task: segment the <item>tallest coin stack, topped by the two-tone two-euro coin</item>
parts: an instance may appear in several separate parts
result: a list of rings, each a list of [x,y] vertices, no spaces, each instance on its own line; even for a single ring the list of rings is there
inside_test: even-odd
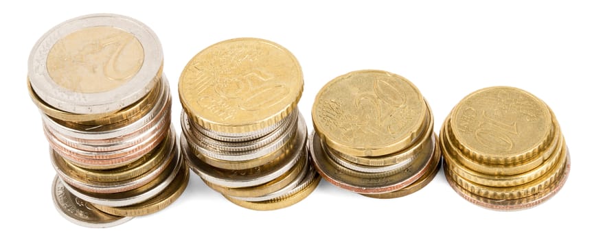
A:
[[[170,128],[161,45],[146,25],[113,14],[71,19],[38,40],[28,67],[62,215],[115,226],[181,195],[188,169]]]

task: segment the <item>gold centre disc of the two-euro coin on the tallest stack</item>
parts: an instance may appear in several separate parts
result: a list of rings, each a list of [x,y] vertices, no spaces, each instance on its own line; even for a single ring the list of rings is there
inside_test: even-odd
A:
[[[46,68],[63,88],[102,93],[132,79],[143,60],[144,49],[133,34],[117,27],[86,27],[52,46]]]

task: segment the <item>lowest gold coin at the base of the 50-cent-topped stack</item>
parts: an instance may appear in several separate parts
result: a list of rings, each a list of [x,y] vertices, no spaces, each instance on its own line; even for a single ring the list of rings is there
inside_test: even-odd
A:
[[[297,202],[300,202],[301,200],[304,200],[304,198],[308,197],[308,195],[310,195],[310,193],[312,193],[312,191],[316,189],[316,187],[320,183],[320,179],[321,178],[319,174],[313,172],[311,180],[306,184],[306,186],[301,188],[300,191],[297,191],[295,193],[292,193],[291,195],[287,195],[284,197],[278,197],[274,200],[267,200],[261,202],[247,202],[229,197],[228,195],[224,195],[224,197],[226,197],[226,199],[230,202],[237,204],[238,206],[242,206],[244,208],[257,211],[271,211],[280,208],[286,208],[288,206],[296,204]]]

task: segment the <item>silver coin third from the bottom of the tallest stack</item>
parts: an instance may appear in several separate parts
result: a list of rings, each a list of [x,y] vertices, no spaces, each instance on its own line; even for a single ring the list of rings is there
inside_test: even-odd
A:
[[[151,182],[143,187],[132,189],[130,191],[121,193],[90,193],[77,189],[76,187],[72,187],[69,184],[65,184],[65,187],[69,189],[73,195],[76,195],[82,200],[86,200],[92,204],[115,207],[138,204],[163,192],[163,190],[166,189],[172,181],[174,181],[178,173],[181,171],[188,171],[188,166],[184,163],[184,160],[180,154],[174,156],[174,158],[176,159],[172,159],[172,161],[177,163],[172,169],[170,169],[170,171],[164,171],[161,173],[161,175],[151,180]]]

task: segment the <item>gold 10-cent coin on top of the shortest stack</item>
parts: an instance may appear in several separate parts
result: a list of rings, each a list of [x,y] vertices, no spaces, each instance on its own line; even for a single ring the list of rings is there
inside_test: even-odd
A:
[[[451,112],[451,139],[483,163],[512,164],[541,152],[554,131],[547,105],[519,88],[483,88]]]

